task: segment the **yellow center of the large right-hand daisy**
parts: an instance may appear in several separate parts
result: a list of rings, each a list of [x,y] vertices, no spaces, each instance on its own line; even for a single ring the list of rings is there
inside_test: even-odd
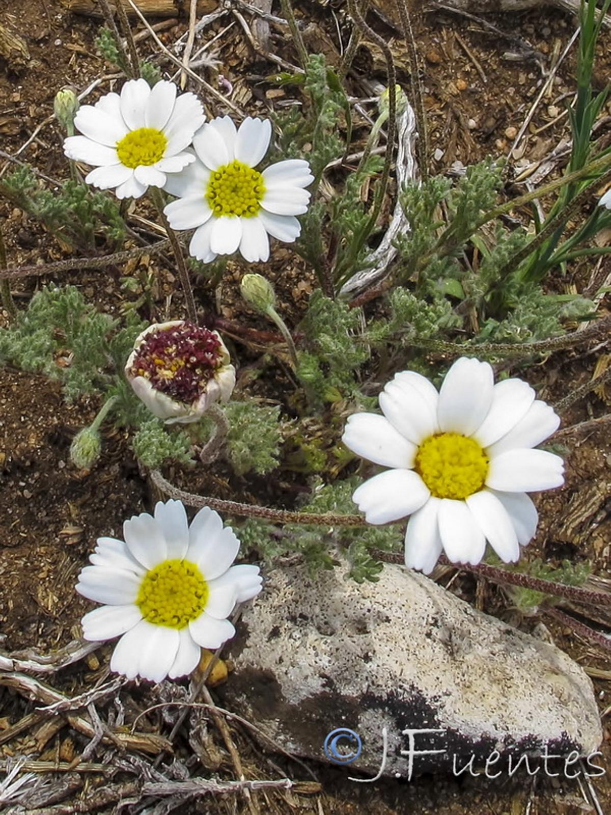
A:
[[[415,471],[436,498],[461,500],[481,490],[488,456],[473,438],[440,433],[425,438],[415,456]]]

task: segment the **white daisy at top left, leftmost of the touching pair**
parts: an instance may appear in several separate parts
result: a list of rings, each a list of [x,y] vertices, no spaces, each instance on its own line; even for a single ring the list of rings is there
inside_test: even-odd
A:
[[[79,108],[74,126],[82,135],[65,139],[64,153],[95,165],[88,184],[115,187],[117,198],[139,198],[194,161],[185,148],[204,123],[204,109],[194,94],[177,97],[176,90],[173,82],[151,88],[144,79],[130,79],[121,96],[106,94]]]

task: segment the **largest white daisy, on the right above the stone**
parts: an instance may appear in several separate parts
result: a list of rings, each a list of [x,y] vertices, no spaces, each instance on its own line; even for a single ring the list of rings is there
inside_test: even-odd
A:
[[[494,384],[486,362],[463,357],[441,390],[419,373],[396,374],[380,394],[383,416],[355,413],[342,437],[358,456],[390,467],[353,500],[373,524],[411,516],[405,562],[426,574],[442,553],[481,561],[486,540],[515,562],[538,522],[530,491],[564,483],[560,456],[536,445],[560,418],[520,379]]]

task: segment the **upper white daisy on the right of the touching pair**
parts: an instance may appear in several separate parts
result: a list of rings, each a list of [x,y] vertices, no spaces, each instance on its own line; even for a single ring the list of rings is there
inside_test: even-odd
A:
[[[269,120],[248,117],[235,130],[228,116],[204,125],[193,139],[197,160],[168,178],[178,196],[164,209],[173,229],[197,227],[189,251],[204,263],[237,249],[249,262],[270,257],[268,235],[292,243],[299,237],[314,181],[301,159],[278,161],[259,172],[270,145]]]

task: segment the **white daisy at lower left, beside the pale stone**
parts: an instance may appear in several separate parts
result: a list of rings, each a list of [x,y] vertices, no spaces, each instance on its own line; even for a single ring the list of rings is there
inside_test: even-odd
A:
[[[258,566],[231,566],[240,541],[209,507],[189,526],[180,501],[160,501],[154,518],[125,521],[123,536],[125,543],[99,538],[79,575],[77,592],[104,604],[83,617],[83,636],[121,637],[110,667],[128,679],[191,673],[200,648],[216,650],[234,636],[226,618],[261,591]]]

